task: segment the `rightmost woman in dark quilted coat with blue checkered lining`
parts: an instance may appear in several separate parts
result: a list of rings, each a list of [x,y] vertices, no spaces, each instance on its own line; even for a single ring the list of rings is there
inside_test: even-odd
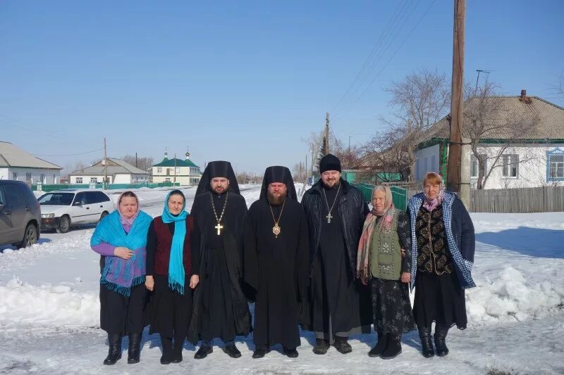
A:
[[[424,192],[408,203],[412,239],[411,285],[415,286],[413,314],[424,357],[434,355],[431,323],[435,322],[436,354],[448,354],[446,334],[451,326],[467,324],[465,288],[476,286],[474,225],[464,204],[444,189],[434,172],[423,180]]]

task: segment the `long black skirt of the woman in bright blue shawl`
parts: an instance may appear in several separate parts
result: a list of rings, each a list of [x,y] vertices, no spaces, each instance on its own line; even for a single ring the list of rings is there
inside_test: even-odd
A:
[[[140,333],[145,328],[147,289],[131,288],[129,297],[100,285],[100,328],[107,333]]]

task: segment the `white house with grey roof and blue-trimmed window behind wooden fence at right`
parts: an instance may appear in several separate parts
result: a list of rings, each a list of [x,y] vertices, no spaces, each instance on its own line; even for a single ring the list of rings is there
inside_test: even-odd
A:
[[[525,108],[537,116],[538,125],[522,139],[513,136],[510,143],[503,134],[482,137],[478,152],[488,156],[484,172],[491,172],[484,189],[564,184],[564,108],[537,96],[526,96],[525,91],[522,96],[497,96],[496,100],[501,100],[504,110],[494,121],[510,121],[500,117],[505,113],[509,118]],[[472,106],[467,102],[465,106]],[[419,144],[415,179],[422,180],[427,172],[446,176],[449,126],[446,117],[436,122],[429,130],[429,137]],[[479,172],[477,158],[472,151],[462,157],[470,162],[470,183],[475,187]]]

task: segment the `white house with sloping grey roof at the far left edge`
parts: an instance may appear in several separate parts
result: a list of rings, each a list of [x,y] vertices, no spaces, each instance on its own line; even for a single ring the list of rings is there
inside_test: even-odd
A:
[[[27,184],[57,184],[63,168],[36,158],[14,146],[0,141],[0,179],[16,179]]]

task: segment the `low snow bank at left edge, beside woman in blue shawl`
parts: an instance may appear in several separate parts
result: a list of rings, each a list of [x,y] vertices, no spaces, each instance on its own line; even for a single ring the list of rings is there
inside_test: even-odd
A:
[[[0,286],[3,326],[99,326],[95,293],[75,293],[68,286],[32,286],[14,277]]]

